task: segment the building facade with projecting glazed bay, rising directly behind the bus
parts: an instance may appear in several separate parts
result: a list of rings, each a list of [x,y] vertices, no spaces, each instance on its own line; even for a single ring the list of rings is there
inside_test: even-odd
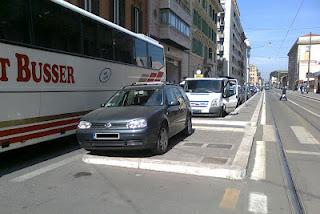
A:
[[[148,6],[148,36],[164,46],[167,81],[189,76],[192,14],[189,0],[153,0]]]

